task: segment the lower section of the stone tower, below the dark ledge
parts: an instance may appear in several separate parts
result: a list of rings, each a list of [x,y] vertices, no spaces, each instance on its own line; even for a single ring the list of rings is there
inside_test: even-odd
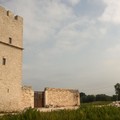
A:
[[[2,65],[3,57],[6,58],[6,65]],[[20,50],[0,44],[0,111],[20,110],[21,58]]]

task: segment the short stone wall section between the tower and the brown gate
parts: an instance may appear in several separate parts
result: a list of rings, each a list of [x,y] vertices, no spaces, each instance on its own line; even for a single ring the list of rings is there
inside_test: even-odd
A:
[[[22,109],[34,107],[34,91],[32,87],[23,86],[22,87],[22,101],[21,101]]]

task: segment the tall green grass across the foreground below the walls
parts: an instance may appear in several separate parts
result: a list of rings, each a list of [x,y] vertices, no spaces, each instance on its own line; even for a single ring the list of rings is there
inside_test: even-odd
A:
[[[0,120],[120,120],[120,108],[98,107],[96,104],[82,104],[77,110],[60,110],[46,113],[30,108],[20,114],[2,116]]]

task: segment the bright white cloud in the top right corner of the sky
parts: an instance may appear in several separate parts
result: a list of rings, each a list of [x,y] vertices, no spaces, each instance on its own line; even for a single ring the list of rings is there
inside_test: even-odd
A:
[[[106,9],[100,20],[120,24],[120,0],[104,0]]]

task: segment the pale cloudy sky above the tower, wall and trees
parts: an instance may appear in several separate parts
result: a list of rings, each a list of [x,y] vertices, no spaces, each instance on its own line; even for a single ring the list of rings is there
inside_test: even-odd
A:
[[[24,19],[23,84],[115,94],[120,0],[0,0]]]

